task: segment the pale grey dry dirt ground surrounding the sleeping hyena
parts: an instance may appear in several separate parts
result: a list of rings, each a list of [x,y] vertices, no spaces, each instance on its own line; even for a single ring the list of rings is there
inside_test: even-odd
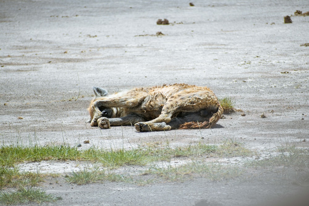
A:
[[[293,14],[308,11],[309,2],[193,3],[0,0],[0,143],[129,148],[166,140],[181,146],[203,137],[209,143],[235,138],[261,153],[308,147],[309,47],[300,45],[309,43],[309,16]],[[292,23],[284,23],[286,15]],[[157,25],[158,19],[170,24]],[[85,123],[92,86],[115,92],[177,82],[233,97],[246,115],[226,115],[212,129],[166,132]],[[295,178],[265,172],[247,181],[147,186],[50,180],[41,188],[63,198],[50,205],[271,205],[308,194]]]

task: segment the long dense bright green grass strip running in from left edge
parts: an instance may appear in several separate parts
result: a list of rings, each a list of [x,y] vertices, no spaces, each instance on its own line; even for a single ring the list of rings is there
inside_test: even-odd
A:
[[[116,167],[122,165],[144,164],[143,152],[139,149],[116,149],[104,151],[103,149],[89,148],[78,150],[69,145],[55,146],[23,146],[23,145],[2,145],[0,147],[0,166],[14,167],[15,164],[43,160],[79,160],[99,161],[104,166]]]

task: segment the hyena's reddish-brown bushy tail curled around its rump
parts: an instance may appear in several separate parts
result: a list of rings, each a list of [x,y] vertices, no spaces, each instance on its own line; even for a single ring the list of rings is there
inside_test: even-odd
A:
[[[223,114],[223,108],[218,103],[218,111],[211,116],[209,121],[204,121],[204,122],[186,122],[184,124],[180,124],[179,129],[198,129],[198,128],[211,128],[214,126],[219,119],[221,118]]]

